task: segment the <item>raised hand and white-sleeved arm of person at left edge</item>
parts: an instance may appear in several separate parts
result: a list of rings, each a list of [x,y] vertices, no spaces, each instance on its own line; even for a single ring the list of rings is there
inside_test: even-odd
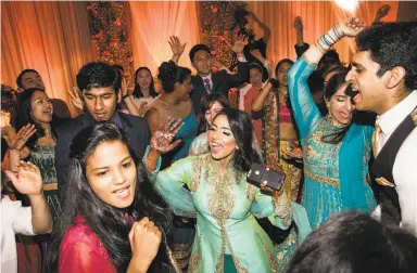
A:
[[[35,235],[52,231],[52,216],[42,193],[42,178],[38,167],[21,162],[18,174],[7,170],[16,190],[26,194],[30,207],[22,207],[21,202],[12,202],[8,196],[0,200],[1,211],[1,269],[0,273],[17,272],[15,236],[17,233]]]

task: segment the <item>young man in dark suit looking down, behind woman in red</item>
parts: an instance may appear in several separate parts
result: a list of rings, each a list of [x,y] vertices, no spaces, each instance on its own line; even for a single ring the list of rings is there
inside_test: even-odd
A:
[[[70,165],[72,140],[79,130],[93,122],[115,122],[125,130],[135,152],[143,157],[151,138],[148,122],[141,117],[116,110],[117,103],[122,100],[121,84],[121,74],[105,63],[88,63],[79,70],[77,86],[81,91],[85,114],[65,122],[56,130],[55,167],[61,194]],[[155,151],[151,150],[149,156],[155,156]]]

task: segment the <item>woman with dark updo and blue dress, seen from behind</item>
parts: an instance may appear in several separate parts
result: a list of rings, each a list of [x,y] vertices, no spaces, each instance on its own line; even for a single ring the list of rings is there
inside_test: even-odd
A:
[[[177,66],[174,62],[164,62],[159,68],[164,93],[149,107],[146,118],[153,134],[161,125],[170,120],[182,120],[184,126],[175,135],[181,143],[173,151],[162,155],[161,170],[188,156],[191,142],[197,136],[198,122],[190,100],[191,72]],[[179,266],[185,270],[191,255],[194,238],[194,219],[174,217],[173,226],[167,235],[169,247]]]

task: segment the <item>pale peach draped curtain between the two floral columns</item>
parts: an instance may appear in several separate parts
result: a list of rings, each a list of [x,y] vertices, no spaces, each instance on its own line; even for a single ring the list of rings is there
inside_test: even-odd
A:
[[[187,42],[179,65],[191,68],[188,53],[200,42],[198,2],[194,1],[143,1],[129,2],[131,14],[131,41],[134,66],[148,66],[153,76],[157,67],[170,60],[169,36],[178,36]]]

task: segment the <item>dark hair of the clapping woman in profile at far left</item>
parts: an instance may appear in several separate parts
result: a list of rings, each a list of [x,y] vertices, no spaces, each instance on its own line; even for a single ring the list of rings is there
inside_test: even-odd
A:
[[[17,106],[16,106],[17,110],[16,110],[16,116],[14,121],[14,125],[16,126],[17,131],[22,127],[26,126],[27,123],[35,125],[36,133],[34,133],[34,135],[31,135],[26,141],[26,146],[31,151],[36,151],[36,144],[38,143],[38,140],[46,135],[42,126],[38,123],[31,115],[31,96],[36,91],[45,93],[42,89],[29,88],[29,89],[25,89],[23,92],[21,92],[17,95]],[[53,136],[56,136],[55,130],[62,123],[62,121],[63,119],[56,117],[55,114],[52,114],[51,129],[52,129]]]

